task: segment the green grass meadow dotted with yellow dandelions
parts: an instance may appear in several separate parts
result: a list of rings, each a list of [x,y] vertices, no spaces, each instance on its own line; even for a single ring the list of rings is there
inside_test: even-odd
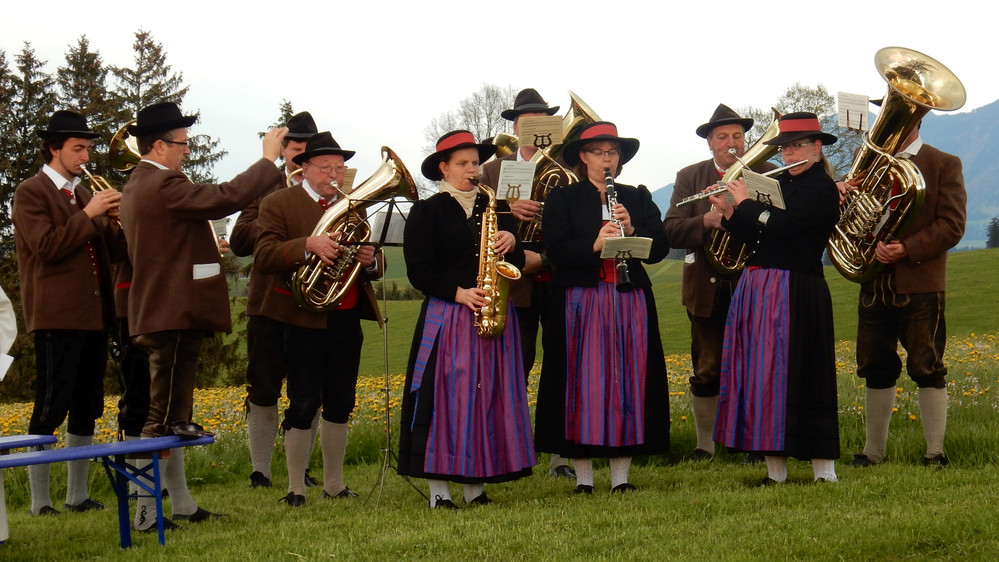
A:
[[[672,427],[668,454],[636,459],[631,481],[639,491],[608,493],[605,463],[597,463],[596,493],[574,497],[573,484],[547,475],[543,456],[534,476],[488,486],[490,506],[457,513],[426,509],[422,481],[415,488],[389,469],[381,470],[386,445],[386,400],[390,428],[398,431],[398,402],[405,360],[418,311],[416,302],[389,302],[389,375],[382,373],[382,339],[366,324],[365,372],[358,387],[346,480],[362,494],[356,501],[323,501],[311,489],[308,504],[291,510],[277,500],[285,493],[284,457],[274,458],[275,488],[248,487],[243,390],[197,391],[195,418],[218,433],[215,445],[188,453],[192,492],[206,508],[229,517],[168,533],[160,548],[154,536],[135,538],[129,552],[117,548],[112,511],[27,514],[24,469],[4,472],[11,539],[2,560],[435,560],[683,559],[683,560],[989,560],[999,552],[999,320],[990,275],[996,250],[951,256],[948,283],[950,410],[946,450],[952,464],[923,467],[923,437],[915,387],[900,380],[888,458],[882,465],[853,469],[852,453],[863,445],[862,384],[855,376],[856,285],[828,272],[833,293],[842,458],[840,481],[813,485],[807,463],[789,463],[789,484],[755,488],[762,466],[720,454],[691,463],[694,429],[686,379],[687,320],[679,305],[679,264],[652,270],[660,329],[670,372]],[[391,272],[391,270],[390,270]],[[531,397],[537,383],[533,372]],[[387,390],[387,395],[386,395]],[[0,431],[19,433],[30,406],[0,406]],[[98,438],[113,439],[114,397],[109,397]],[[313,457],[314,473],[319,467]],[[53,499],[61,505],[65,470],[52,471]],[[113,494],[97,467],[91,489],[111,505]],[[452,486],[460,497],[460,487]]]

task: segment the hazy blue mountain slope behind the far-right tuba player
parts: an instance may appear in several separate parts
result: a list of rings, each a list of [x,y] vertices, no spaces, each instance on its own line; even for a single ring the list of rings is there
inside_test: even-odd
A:
[[[985,229],[992,217],[999,217],[999,189],[992,184],[999,178],[999,101],[968,113],[930,113],[920,134],[923,142],[961,158],[968,224],[958,248],[984,248]],[[663,213],[672,194],[672,183],[652,192]]]

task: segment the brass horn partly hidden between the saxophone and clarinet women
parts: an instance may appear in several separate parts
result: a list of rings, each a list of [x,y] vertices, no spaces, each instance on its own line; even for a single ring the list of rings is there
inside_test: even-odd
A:
[[[569,110],[562,117],[562,143],[538,150],[531,157],[534,163],[534,181],[531,182],[531,200],[541,203],[538,214],[530,221],[520,222],[518,234],[523,242],[539,242],[541,240],[541,214],[544,212],[545,199],[552,188],[568,180],[569,183],[579,181],[576,174],[558,163],[562,149],[566,144],[579,138],[583,127],[589,123],[600,121],[600,117],[573,92],[569,92]],[[563,179],[564,178],[564,179]]]

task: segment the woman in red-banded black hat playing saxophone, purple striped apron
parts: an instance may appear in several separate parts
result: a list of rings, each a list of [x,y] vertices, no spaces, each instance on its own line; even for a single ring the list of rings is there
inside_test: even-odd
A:
[[[457,509],[448,481],[465,485],[465,503],[489,503],[486,482],[527,476],[535,464],[514,309],[498,337],[480,337],[475,325],[492,298],[477,286],[482,258],[524,265],[509,215],[481,247],[480,231],[497,219],[472,180],[495,150],[468,131],[441,137],[422,166],[440,193],[414,203],[406,221],[409,280],[426,298],[406,373],[399,474],[428,480],[431,508]]]

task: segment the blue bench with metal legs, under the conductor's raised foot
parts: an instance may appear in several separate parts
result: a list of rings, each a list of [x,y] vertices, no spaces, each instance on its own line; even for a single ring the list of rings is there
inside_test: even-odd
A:
[[[25,436],[18,436],[25,437]],[[49,436],[31,436],[49,437]],[[55,437],[51,438],[51,442]],[[48,464],[54,462],[75,461],[81,459],[96,459],[104,465],[104,472],[111,481],[111,487],[118,496],[118,533],[121,537],[121,547],[132,546],[132,521],[128,512],[128,482],[135,483],[145,493],[139,492],[135,497],[153,497],[156,499],[156,530],[160,544],[166,542],[163,536],[163,488],[160,482],[159,459],[164,451],[177,447],[192,445],[208,445],[215,442],[215,437],[206,435],[197,439],[184,439],[171,435],[169,437],[154,437],[134,441],[118,441],[84,447],[66,447],[62,449],[46,449],[12,455],[0,456],[0,469],[32,464]],[[126,455],[149,454],[152,462],[139,469],[126,462]],[[151,481],[152,486],[145,480]]]

